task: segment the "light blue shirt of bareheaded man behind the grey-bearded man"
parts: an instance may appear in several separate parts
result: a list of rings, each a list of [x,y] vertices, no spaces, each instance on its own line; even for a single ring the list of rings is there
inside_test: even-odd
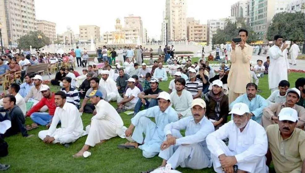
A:
[[[263,109],[268,106],[266,99],[264,99],[264,97],[260,95],[256,95],[255,98],[250,101],[248,99],[247,94],[243,94],[237,97],[237,99],[230,104],[229,109],[231,110],[235,103],[240,103],[240,102],[247,104],[250,109],[250,112],[254,114],[254,116],[251,119],[261,124]],[[231,116],[231,120],[233,120],[233,116]]]

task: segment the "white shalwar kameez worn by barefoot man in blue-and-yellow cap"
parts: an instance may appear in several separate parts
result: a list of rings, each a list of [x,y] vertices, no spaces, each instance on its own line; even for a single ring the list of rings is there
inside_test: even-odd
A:
[[[113,106],[105,100],[100,100],[95,108],[97,113],[91,118],[91,125],[86,127],[88,136],[85,144],[94,147],[101,140],[108,140],[117,135],[124,138],[123,120]]]

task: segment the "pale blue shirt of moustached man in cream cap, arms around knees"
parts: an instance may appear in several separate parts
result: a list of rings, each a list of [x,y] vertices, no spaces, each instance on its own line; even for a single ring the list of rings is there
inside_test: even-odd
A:
[[[205,116],[196,124],[194,117],[185,117],[171,122],[164,127],[166,135],[172,134],[172,129],[185,130],[185,137],[176,139],[176,146],[181,144],[196,144],[205,141],[208,134],[214,131],[213,123]]]

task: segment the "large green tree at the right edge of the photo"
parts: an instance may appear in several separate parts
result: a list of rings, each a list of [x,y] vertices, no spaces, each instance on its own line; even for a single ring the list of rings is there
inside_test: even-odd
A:
[[[281,34],[284,39],[303,41],[304,32],[304,18],[301,12],[282,12],[273,16],[268,28],[267,39],[272,41],[275,35]]]

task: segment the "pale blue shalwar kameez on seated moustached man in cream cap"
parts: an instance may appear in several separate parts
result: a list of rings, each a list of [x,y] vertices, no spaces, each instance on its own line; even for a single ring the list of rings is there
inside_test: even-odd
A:
[[[185,137],[181,135],[180,130],[185,130]],[[173,169],[178,166],[192,169],[211,167],[211,153],[207,149],[205,139],[213,131],[214,125],[206,117],[203,117],[197,124],[193,116],[172,122],[165,126],[165,136],[171,134],[178,139],[176,139],[175,146],[171,145],[160,151],[159,157],[167,160]]]

